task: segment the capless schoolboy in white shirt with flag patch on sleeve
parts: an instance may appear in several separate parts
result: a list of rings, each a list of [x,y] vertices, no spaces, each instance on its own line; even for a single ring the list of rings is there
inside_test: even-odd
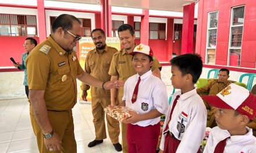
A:
[[[159,152],[200,152],[205,136],[207,111],[194,83],[202,73],[202,60],[198,54],[182,54],[170,60],[173,88],[172,104],[163,124]]]

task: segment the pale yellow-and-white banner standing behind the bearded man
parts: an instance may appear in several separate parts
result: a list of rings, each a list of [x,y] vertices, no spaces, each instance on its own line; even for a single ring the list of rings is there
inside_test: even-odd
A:
[[[106,37],[106,45],[111,46],[120,50],[120,41],[118,37]],[[79,61],[82,68],[84,68],[84,64],[86,63],[86,56],[88,52],[93,50],[95,45],[93,43],[93,39],[91,37],[82,37],[79,41]],[[80,83],[81,86],[81,83]],[[80,88],[80,100],[83,91]],[[87,90],[87,101],[91,101],[91,89]]]

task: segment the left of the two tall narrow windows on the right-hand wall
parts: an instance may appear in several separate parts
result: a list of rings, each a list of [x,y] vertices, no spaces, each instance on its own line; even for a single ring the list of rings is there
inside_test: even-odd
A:
[[[208,13],[207,46],[205,54],[205,63],[207,64],[215,64],[217,28],[218,12]]]

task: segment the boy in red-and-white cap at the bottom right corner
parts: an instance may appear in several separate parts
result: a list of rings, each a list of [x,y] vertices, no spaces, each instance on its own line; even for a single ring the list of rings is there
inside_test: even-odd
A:
[[[216,96],[202,96],[218,108],[204,153],[256,152],[256,138],[246,125],[256,116],[256,97],[247,89],[234,83]]]

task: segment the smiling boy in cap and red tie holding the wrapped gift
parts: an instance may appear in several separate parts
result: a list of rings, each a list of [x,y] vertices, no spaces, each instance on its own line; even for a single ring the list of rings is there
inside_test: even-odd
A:
[[[168,110],[165,83],[152,75],[153,52],[149,46],[140,44],[133,52],[132,65],[137,72],[125,82],[123,102],[133,110],[127,123],[128,151],[152,152],[157,150],[160,135],[160,118]]]

